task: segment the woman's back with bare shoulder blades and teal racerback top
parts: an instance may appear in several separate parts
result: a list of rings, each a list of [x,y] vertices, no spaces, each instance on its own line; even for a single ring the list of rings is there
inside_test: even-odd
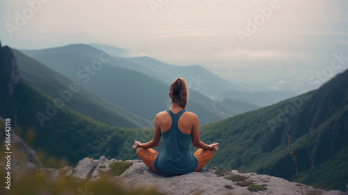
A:
[[[184,109],[176,114],[167,109],[157,116],[163,144],[153,165],[164,176],[191,173],[198,165],[189,148],[192,129],[190,115]]]

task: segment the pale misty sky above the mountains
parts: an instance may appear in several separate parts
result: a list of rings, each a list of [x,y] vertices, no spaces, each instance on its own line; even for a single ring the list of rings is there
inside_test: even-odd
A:
[[[327,71],[333,54],[348,56],[345,0],[46,1],[22,26],[16,25],[16,12],[23,16],[29,3],[0,1],[2,45],[41,49],[104,43],[128,49],[130,56],[203,65],[253,90],[296,93],[317,87],[308,79]],[[272,13],[262,21],[260,9]],[[260,25],[248,33],[247,20],[255,18]],[[17,26],[12,37],[9,24]],[[237,31],[248,33],[244,43]],[[347,68],[348,61],[324,79]]]

